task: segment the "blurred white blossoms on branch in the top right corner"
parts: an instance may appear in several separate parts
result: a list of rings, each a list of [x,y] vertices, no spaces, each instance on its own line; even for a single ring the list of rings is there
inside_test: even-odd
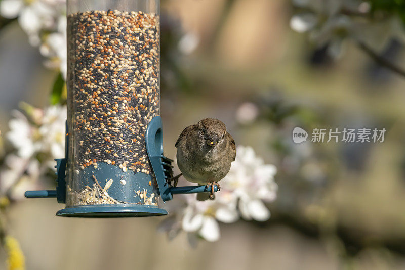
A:
[[[372,16],[371,6],[361,0],[293,0],[297,13],[290,27],[308,33],[309,39],[321,47],[329,44],[328,53],[334,58],[343,55],[347,40],[367,44],[380,51],[395,37],[405,41],[403,22],[397,16]]]

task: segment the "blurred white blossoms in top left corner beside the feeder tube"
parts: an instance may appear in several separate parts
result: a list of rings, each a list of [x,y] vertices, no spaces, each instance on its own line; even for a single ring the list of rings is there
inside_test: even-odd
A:
[[[32,46],[39,46],[48,67],[60,68],[66,78],[66,1],[2,0],[0,15],[18,18]]]

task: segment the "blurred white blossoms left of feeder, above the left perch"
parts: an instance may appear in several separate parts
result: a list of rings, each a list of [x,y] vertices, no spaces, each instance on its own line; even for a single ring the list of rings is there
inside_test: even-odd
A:
[[[37,189],[41,178],[54,170],[55,158],[65,156],[66,107],[52,106],[45,110],[26,106],[27,116],[14,111],[7,139],[16,149],[6,156],[0,171],[0,192],[22,198],[27,189]]]

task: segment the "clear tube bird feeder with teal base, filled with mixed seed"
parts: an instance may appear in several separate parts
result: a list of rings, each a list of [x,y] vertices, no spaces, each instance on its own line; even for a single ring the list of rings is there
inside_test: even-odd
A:
[[[67,1],[66,155],[56,159],[58,216],[165,215],[173,160],[163,155],[159,0]],[[217,191],[217,187],[214,188]]]

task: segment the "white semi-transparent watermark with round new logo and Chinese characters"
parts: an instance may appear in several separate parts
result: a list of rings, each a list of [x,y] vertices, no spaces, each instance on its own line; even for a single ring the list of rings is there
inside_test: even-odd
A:
[[[383,143],[386,129],[377,128],[314,128],[311,133],[312,143]],[[296,144],[306,141],[308,133],[301,127],[293,130],[293,141]]]

